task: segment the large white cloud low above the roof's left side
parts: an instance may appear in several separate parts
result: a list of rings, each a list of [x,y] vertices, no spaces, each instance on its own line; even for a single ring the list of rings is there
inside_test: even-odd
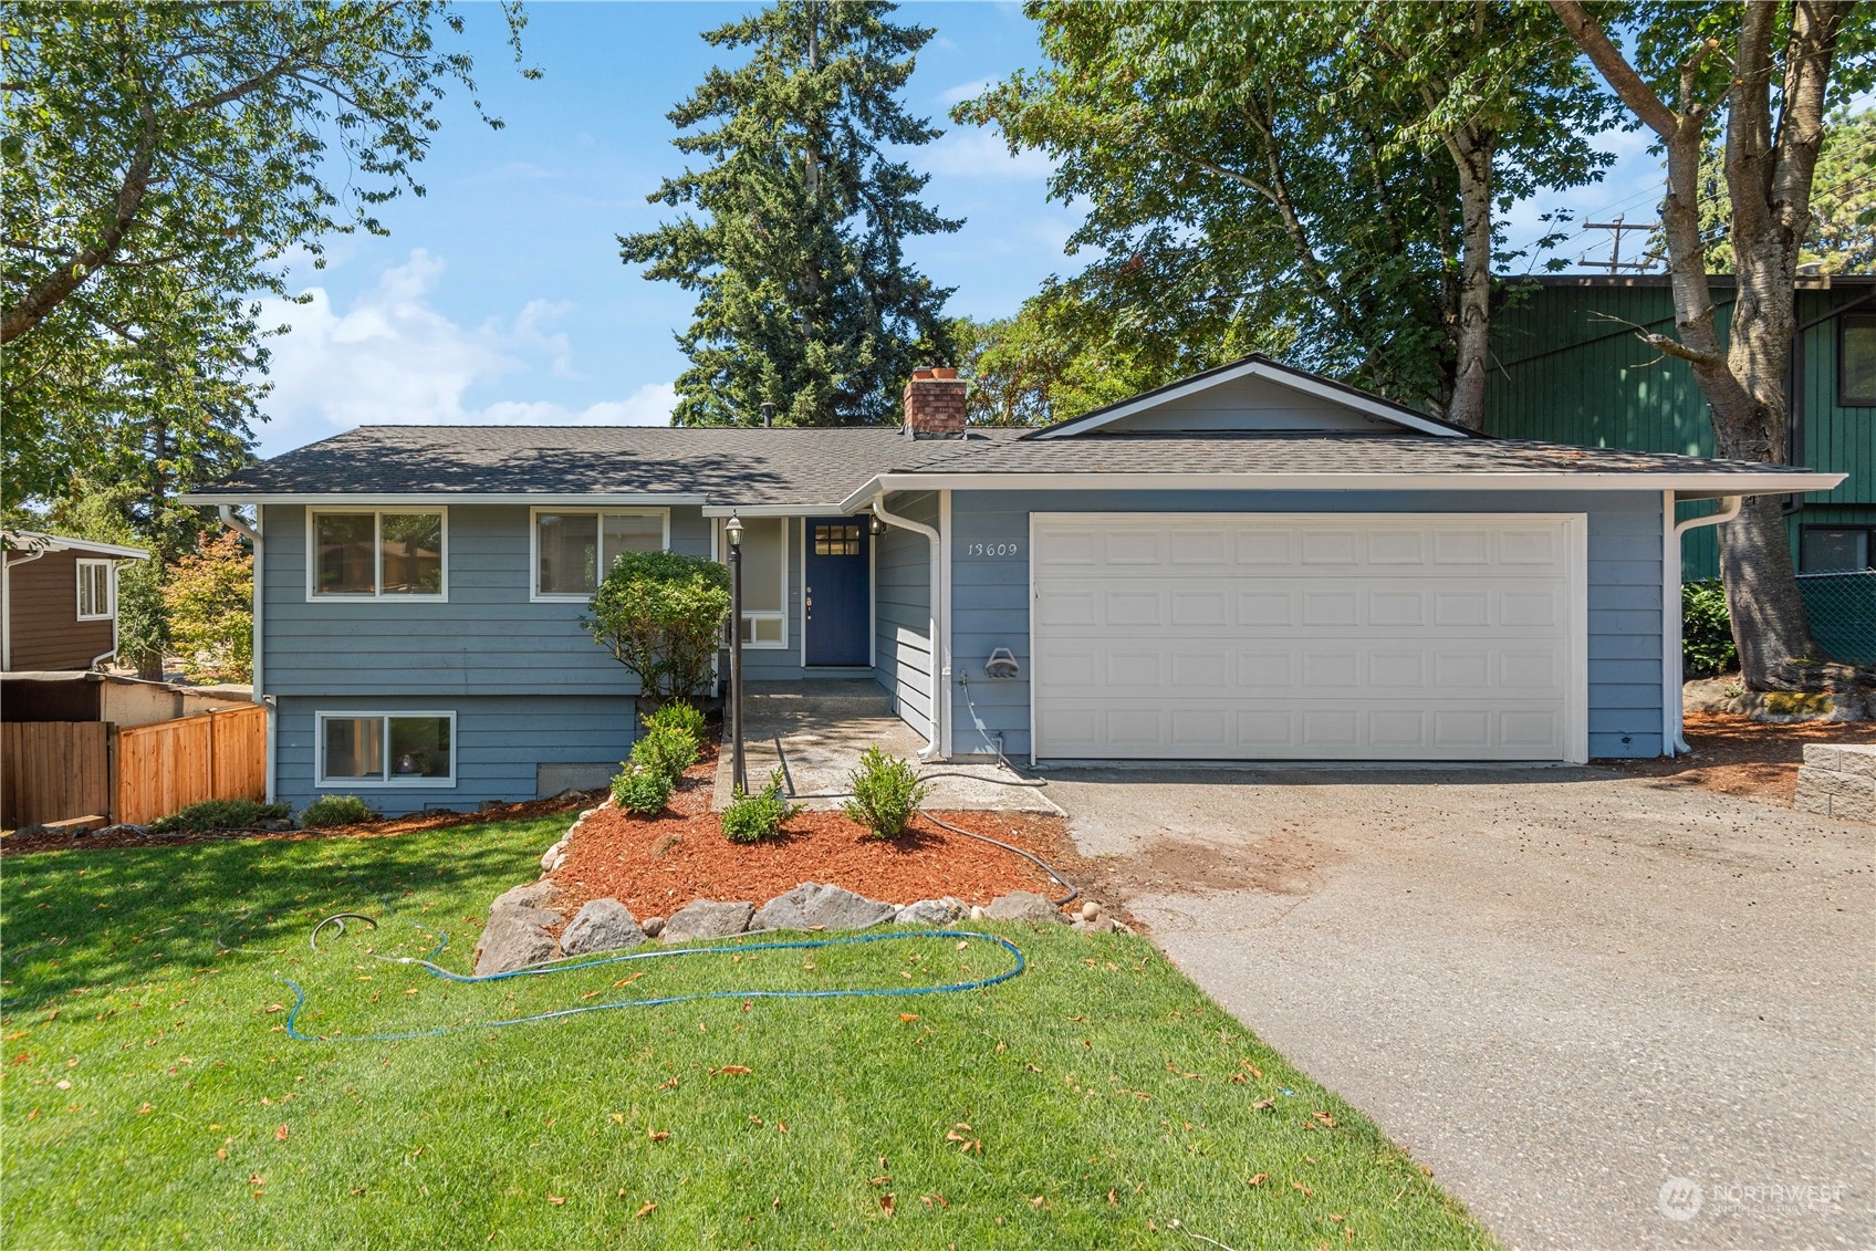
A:
[[[507,383],[514,390],[537,369],[580,379],[567,334],[550,330],[572,304],[529,300],[512,319],[461,326],[431,304],[443,270],[441,257],[418,248],[343,311],[325,287],[310,287],[308,304],[268,302],[263,324],[285,323],[293,330],[270,343],[274,392],[263,401],[270,420],[257,431],[263,454],[368,422],[657,426],[670,420],[675,403],[670,383],[649,383],[625,399],[583,409],[544,399],[469,403],[465,396],[475,388]]]

